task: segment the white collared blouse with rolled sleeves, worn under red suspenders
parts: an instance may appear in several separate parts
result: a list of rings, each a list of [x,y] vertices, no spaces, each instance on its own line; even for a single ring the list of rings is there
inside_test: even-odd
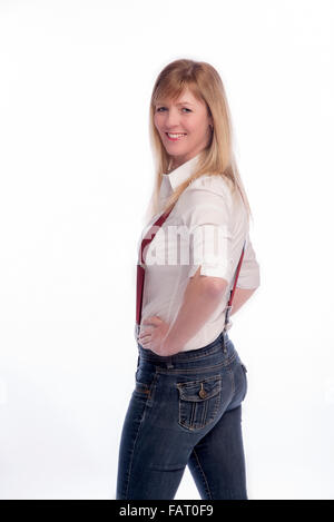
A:
[[[187,179],[199,155],[169,174],[163,174],[159,213],[144,228],[141,239],[163,213],[163,205],[175,188]],[[259,286],[259,265],[255,256],[246,219],[246,209],[238,190],[233,195],[230,181],[220,176],[204,175],[181,194],[168,218],[145,250],[145,286],[143,321],[157,315],[167,323],[175,321],[183,303],[188,278],[200,265],[200,274],[222,277],[227,288],[222,303],[209,321],[180,351],[197,349],[215,341],[225,324],[225,307],[239,262],[244,240],[245,253],[238,276],[238,288]],[[145,326],[145,325],[144,325]],[[136,328],[135,328],[135,337]]]

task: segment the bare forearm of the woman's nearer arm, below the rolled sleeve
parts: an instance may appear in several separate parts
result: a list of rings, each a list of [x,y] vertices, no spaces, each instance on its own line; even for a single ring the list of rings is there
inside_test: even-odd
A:
[[[177,317],[171,323],[165,346],[167,352],[180,352],[194,337],[222,303],[223,288],[209,285],[206,276],[190,278]]]

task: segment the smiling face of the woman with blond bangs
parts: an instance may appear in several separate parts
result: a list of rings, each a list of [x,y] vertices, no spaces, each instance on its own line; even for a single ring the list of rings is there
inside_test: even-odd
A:
[[[208,145],[212,136],[209,125],[213,119],[206,105],[188,88],[177,100],[159,100],[154,121],[166,151],[173,157],[173,168],[194,158]]]

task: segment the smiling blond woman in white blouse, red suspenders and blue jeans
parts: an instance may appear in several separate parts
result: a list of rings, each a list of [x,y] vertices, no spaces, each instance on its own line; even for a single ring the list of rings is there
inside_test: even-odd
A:
[[[247,499],[246,368],[227,335],[230,323],[224,326],[240,256],[233,313],[259,286],[259,265],[217,71],[186,59],[169,63],[154,86],[150,126],[157,178],[143,237],[159,216],[165,221],[144,249],[138,367],[116,499],[171,500],[186,465],[202,499]]]

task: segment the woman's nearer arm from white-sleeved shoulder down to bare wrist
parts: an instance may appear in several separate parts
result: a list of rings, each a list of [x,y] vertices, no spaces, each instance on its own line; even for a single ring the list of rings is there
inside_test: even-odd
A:
[[[196,185],[197,183],[197,185]],[[207,184],[207,185],[206,185]],[[230,205],[224,188],[216,189],[212,180],[195,181],[183,194],[183,223],[193,242],[194,262],[188,273],[181,305],[164,339],[167,353],[177,353],[222,306],[228,280],[232,278]],[[215,240],[214,237],[217,239]]]

